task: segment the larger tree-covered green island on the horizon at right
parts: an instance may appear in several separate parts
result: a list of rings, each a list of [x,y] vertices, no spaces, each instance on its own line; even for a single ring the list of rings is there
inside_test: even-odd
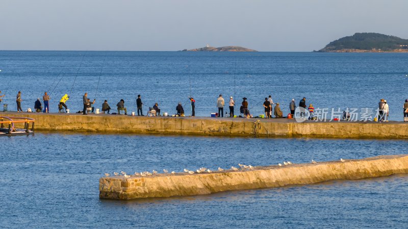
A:
[[[379,33],[355,33],[340,38],[314,52],[328,53],[408,53],[408,39]]]

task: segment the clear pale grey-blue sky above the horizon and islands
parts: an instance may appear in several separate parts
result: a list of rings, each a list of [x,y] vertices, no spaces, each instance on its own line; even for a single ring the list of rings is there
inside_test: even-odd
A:
[[[406,0],[1,0],[0,50],[309,52],[358,32],[408,39]]]

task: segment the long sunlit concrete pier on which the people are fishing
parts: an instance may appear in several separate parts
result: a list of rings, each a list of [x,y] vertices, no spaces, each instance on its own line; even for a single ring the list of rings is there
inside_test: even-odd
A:
[[[36,119],[35,130],[207,136],[408,138],[408,122],[315,122],[293,119],[146,117],[1,113]]]

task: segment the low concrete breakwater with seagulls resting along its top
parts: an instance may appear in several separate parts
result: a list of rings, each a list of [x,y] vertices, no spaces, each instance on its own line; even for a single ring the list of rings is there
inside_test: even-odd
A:
[[[230,190],[314,184],[408,173],[408,155],[379,156],[346,162],[255,167],[245,171],[102,177],[99,197],[137,199],[210,194]]]

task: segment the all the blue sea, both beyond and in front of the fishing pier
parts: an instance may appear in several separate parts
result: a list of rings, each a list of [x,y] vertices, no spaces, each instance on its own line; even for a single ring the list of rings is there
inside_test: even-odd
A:
[[[272,95],[315,108],[370,108],[387,99],[402,121],[406,54],[0,51],[3,104],[34,107],[44,91],[51,112],[65,93],[71,111],[82,95],[125,100],[136,111],[159,103],[175,113],[188,97],[196,115],[217,112],[219,94],[248,98],[254,114]],[[97,108],[97,107],[96,107]],[[0,109],[2,110],[2,109]],[[146,111],[144,111],[146,112]],[[0,113],[1,114],[1,113]],[[407,140],[204,137],[36,132],[0,137],[1,228],[406,228],[408,175],[209,195],[117,201],[99,199],[104,173],[182,172],[291,161],[308,163],[406,154]]]

